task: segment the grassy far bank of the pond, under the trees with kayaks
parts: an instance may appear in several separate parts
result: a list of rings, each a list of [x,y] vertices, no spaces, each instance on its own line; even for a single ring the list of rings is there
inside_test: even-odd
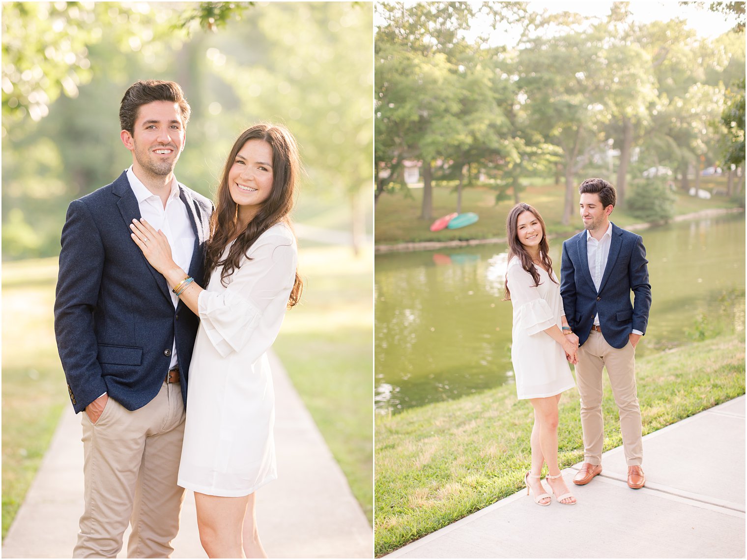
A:
[[[725,188],[726,179],[724,177],[704,179],[701,188],[722,186],[721,183]],[[522,202],[531,204],[539,210],[550,235],[576,233],[583,227],[576,212],[577,206],[574,206],[571,223],[568,226],[561,224],[565,200],[564,189],[565,185],[553,185],[551,181],[531,181],[527,190],[521,195]],[[376,203],[375,237],[377,245],[418,241],[451,241],[454,239],[491,239],[506,236],[506,216],[514,203],[513,200],[510,200],[495,204],[495,191],[490,188],[477,186],[463,190],[462,212],[476,212],[480,216],[480,221],[459,230],[431,232],[428,229],[436,218],[450,212],[456,212],[456,193],[453,192],[450,185],[433,188],[433,220],[426,221],[419,218],[422,197],[422,188],[411,188],[406,193],[382,194],[379,197],[379,201]],[[722,196],[715,196],[710,200],[701,200],[678,191],[677,198],[675,211],[678,215],[736,206],[734,201]],[[576,194],[576,202],[578,202],[578,194]],[[631,224],[638,224],[641,220],[627,214],[621,206],[613,212],[612,221],[621,227],[626,227]]]

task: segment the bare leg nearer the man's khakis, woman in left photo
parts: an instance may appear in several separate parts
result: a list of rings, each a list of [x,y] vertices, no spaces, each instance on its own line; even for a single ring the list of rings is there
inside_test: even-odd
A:
[[[227,498],[194,493],[199,541],[208,558],[246,558],[241,529],[249,496]]]

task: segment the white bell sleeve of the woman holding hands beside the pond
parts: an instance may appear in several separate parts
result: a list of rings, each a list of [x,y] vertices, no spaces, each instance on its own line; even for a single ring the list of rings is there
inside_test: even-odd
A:
[[[514,307],[514,327],[531,336],[557,324],[550,305],[539,295],[532,275],[521,268],[521,263],[509,266],[506,280]]]

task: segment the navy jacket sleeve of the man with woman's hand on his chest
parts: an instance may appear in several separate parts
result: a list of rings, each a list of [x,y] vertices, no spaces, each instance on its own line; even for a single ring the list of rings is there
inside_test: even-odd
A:
[[[107,390],[93,330],[104,247],[93,216],[81,200],[74,200],[67,209],[61,245],[55,337],[72,406],[78,413]]]

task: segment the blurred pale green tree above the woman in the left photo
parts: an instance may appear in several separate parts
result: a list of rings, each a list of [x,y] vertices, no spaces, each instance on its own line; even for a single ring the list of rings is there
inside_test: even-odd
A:
[[[347,198],[356,250],[372,184],[372,25],[371,10],[347,3],[268,4],[261,18],[229,22],[232,40],[207,51],[211,72],[229,86],[221,96],[229,115],[286,123],[311,185]]]

